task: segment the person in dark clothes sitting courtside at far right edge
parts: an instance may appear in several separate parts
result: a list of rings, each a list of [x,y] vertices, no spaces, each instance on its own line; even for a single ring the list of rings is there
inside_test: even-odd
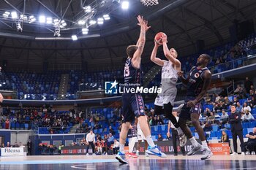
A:
[[[255,147],[256,147],[256,128],[253,128],[252,132],[249,134],[246,134],[246,138],[248,138],[248,141],[244,143],[246,148],[246,155],[249,155],[250,153],[252,155],[255,155]]]

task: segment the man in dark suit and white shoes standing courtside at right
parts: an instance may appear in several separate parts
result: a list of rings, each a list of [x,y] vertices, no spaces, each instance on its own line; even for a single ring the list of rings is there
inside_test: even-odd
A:
[[[231,114],[229,116],[229,122],[231,125],[231,132],[233,136],[233,146],[234,152],[231,155],[238,155],[237,153],[237,136],[239,137],[241,143],[241,155],[245,155],[244,153],[244,137],[243,137],[243,126],[241,124],[241,114],[236,111],[236,106],[231,106]]]

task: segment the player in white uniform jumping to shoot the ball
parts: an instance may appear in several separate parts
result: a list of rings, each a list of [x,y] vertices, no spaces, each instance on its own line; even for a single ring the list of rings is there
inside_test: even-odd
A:
[[[151,53],[151,61],[157,63],[157,65],[162,66],[161,74],[161,88],[162,93],[157,95],[154,103],[154,113],[156,115],[165,114],[173,125],[177,128],[178,136],[180,140],[180,145],[183,147],[187,143],[187,138],[183,131],[178,125],[176,117],[173,116],[173,106],[174,100],[177,94],[176,82],[178,80],[178,72],[181,71],[181,62],[178,61],[178,53],[174,48],[167,47],[167,37],[162,37],[162,46],[165,53],[165,57],[168,60],[162,60],[157,58],[157,50],[160,46],[157,42],[154,42],[154,49]]]

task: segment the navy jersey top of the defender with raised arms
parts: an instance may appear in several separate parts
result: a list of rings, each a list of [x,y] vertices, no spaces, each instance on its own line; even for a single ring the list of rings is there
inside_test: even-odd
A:
[[[124,66],[124,83],[125,84],[139,84],[142,83],[143,71],[141,69],[135,69],[132,66],[132,58],[127,58]]]

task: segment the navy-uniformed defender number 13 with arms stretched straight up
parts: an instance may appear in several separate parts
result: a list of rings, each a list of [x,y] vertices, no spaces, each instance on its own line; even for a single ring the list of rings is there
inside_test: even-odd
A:
[[[143,76],[140,66],[141,54],[143,53],[146,42],[146,31],[150,28],[150,26],[148,26],[148,21],[144,20],[143,17],[139,15],[137,19],[139,22],[138,25],[140,26],[140,37],[136,45],[129,45],[127,47],[128,58],[124,66],[124,85],[127,89],[136,88],[141,85]],[[141,94],[125,91],[122,95],[122,104],[124,120],[120,132],[120,151],[116,155],[116,159],[120,163],[128,163],[124,154],[124,144],[127,139],[129,126],[135,121],[135,117],[138,117],[141,130],[143,131],[144,136],[146,136],[146,141],[149,145],[146,152],[165,158],[165,153],[161,152],[152,140]]]

